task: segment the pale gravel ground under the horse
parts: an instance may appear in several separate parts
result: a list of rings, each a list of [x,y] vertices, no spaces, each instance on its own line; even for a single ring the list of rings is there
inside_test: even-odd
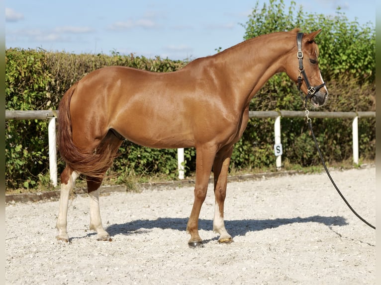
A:
[[[332,171],[352,207],[376,220],[375,167]],[[200,214],[204,248],[190,249],[193,188],[100,197],[112,241],[89,230],[89,200],[69,201],[69,243],[55,239],[58,201],[8,203],[6,284],[376,284],[376,231],[345,205],[325,173],[229,182],[225,225],[212,231],[209,185]]]

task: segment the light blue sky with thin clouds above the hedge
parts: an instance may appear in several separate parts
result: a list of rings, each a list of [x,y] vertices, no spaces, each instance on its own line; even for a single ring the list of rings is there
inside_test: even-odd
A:
[[[5,0],[5,46],[183,60],[241,41],[257,0]],[[259,7],[268,0],[259,0]],[[286,6],[290,0],[285,0]],[[375,0],[295,0],[308,13],[376,23]],[[307,32],[307,31],[306,31]]]

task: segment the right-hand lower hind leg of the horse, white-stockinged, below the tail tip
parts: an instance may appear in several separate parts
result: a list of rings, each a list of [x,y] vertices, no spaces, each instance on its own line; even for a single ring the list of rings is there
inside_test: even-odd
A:
[[[111,238],[103,228],[99,209],[99,187],[102,183],[101,178],[87,177],[88,192],[90,197],[90,229],[95,230],[96,240],[109,240]]]

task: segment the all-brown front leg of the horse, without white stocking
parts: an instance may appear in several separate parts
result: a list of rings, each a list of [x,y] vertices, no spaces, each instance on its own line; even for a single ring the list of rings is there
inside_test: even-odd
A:
[[[215,156],[215,148],[196,148],[196,182],[194,186],[194,202],[191,215],[187,224],[187,232],[191,234],[188,245],[191,248],[203,247],[202,239],[198,234],[198,218],[202,203],[206,198],[209,183],[209,175],[212,169]]]

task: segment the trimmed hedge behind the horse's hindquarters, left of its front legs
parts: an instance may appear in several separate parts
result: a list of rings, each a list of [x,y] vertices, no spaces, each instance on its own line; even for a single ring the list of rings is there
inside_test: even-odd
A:
[[[96,69],[119,65],[148,71],[169,72],[182,68],[185,61],[147,59],[121,56],[113,53],[75,55],[52,53],[44,50],[7,49],[6,61],[6,110],[55,110],[63,93],[87,73]],[[36,187],[49,182],[46,175],[48,162],[47,122],[41,120],[6,121],[6,189]],[[128,169],[138,175],[162,172],[175,178],[176,150],[147,149],[126,142],[120,151],[127,156],[116,159],[113,169]],[[194,157],[188,150],[186,156]],[[167,158],[167,159],[166,159]],[[59,171],[63,163],[59,161]],[[119,182],[124,182],[120,175]]]

